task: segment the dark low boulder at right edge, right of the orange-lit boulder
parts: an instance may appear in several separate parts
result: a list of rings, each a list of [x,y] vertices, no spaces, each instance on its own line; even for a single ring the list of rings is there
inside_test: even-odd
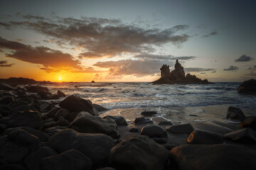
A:
[[[256,144],[256,132],[250,128],[243,128],[225,134],[227,140],[243,144]]]

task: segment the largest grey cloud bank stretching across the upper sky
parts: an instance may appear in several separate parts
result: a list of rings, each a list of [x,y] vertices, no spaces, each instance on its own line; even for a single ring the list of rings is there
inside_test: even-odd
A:
[[[21,14],[19,15],[21,16]],[[186,25],[161,30],[159,28],[144,29],[127,25],[119,20],[106,18],[43,18],[41,16],[22,16],[23,21],[9,22],[11,26],[30,28],[50,36],[58,45],[82,47],[80,57],[114,57],[122,53],[151,52],[155,46],[172,43],[180,45],[190,37],[178,34],[187,29]],[[26,21],[28,19],[29,21]]]

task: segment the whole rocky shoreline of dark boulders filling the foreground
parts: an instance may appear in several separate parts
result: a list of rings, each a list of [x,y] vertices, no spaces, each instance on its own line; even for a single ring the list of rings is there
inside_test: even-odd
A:
[[[0,85],[0,169],[255,169],[256,116],[228,108],[239,125],[181,123],[154,111],[134,121],[46,87]],[[60,102],[54,101],[59,98]]]

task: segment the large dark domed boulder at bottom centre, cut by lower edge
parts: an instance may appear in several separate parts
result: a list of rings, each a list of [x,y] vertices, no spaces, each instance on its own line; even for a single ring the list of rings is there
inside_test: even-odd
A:
[[[110,164],[116,169],[164,169],[168,150],[147,136],[129,137],[111,149]]]

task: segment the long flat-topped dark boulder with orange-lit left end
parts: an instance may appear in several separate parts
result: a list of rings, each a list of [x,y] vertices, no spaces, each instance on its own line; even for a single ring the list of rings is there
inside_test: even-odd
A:
[[[213,144],[222,144],[224,142],[223,135],[219,135],[212,132],[206,132],[202,130],[193,130],[188,136],[187,142],[189,144],[197,145],[213,145]]]

